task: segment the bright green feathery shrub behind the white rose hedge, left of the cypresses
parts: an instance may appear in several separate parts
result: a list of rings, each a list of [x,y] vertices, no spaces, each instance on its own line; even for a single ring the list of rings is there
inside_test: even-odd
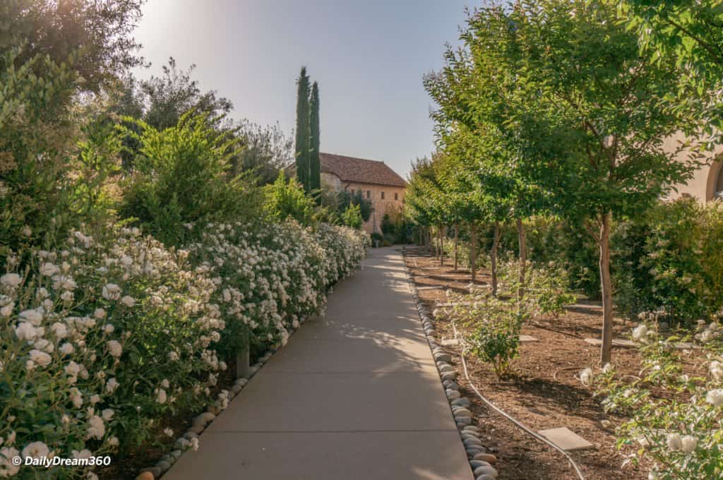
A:
[[[229,173],[236,140],[213,123],[186,113],[162,131],[142,122],[141,134],[127,130],[141,147],[120,213],[166,245],[189,241],[186,224],[254,218],[259,211],[254,187]]]

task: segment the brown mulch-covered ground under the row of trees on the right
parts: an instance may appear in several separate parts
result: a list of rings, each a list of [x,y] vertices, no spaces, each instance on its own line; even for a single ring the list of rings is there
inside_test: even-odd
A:
[[[411,268],[417,288],[443,286],[440,289],[422,289],[419,298],[434,310],[437,303],[447,301],[446,289],[459,293],[468,292],[471,275],[469,271],[453,271],[452,262],[430,257],[420,249],[407,249],[406,262]],[[482,270],[477,277],[479,284],[489,281],[489,272]],[[646,466],[621,467],[625,453],[615,447],[615,424],[624,419],[604,413],[593,391],[583,387],[576,375],[585,367],[599,366],[599,347],[585,343],[585,338],[599,338],[601,334],[602,309],[591,301],[580,301],[567,309],[557,320],[539,317],[528,322],[523,335],[531,335],[537,341],[521,343],[520,354],[513,361],[513,373],[498,380],[492,368],[482,361],[468,356],[471,379],[482,395],[518,419],[534,431],[555,427],[570,430],[594,445],[590,450],[571,453],[589,480],[647,479]],[[633,324],[615,320],[615,338],[627,338]],[[448,322],[436,324],[437,335],[453,338]],[[495,468],[500,480],[522,479],[577,479],[578,476],[562,454],[534,440],[495,411],[490,410],[469,388],[459,361],[460,349],[445,346],[458,368],[460,393],[472,402],[483,434],[485,447],[497,455]],[[455,356],[457,356],[455,358]],[[614,348],[613,363],[621,372],[638,374],[640,361],[630,348]],[[602,421],[607,424],[604,426]]]

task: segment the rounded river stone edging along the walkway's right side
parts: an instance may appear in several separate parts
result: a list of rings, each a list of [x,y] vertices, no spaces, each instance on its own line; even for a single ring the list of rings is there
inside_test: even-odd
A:
[[[404,250],[402,251],[402,256],[409,290],[414,298],[416,309],[419,312],[419,319],[422,320],[424,335],[427,336],[427,343],[429,343],[429,348],[432,349],[437,370],[440,372],[440,379],[442,380],[442,385],[445,387],[445,394],[449,400],[464,449],[467,452],[467,458],[469,458],[469,466],[472,469],[475,480],[495,480],[497,479],[497,470],[492,466],[492,463],[495,463],[497,458],[495,455],[488,453],[487,449],[482,446],[482,440],[479,440],[481,432],[479,427],[473,425],[472,412],[469,410],[469,406],[471,405],[469,398],[463,397],[459,393],[457,369],[452,365],[452,356],[445,352],[439,343],[437,343],[437,331],[435,330],[432,312],[429,312],[429,309],[424,307],[422,301],[419,300],[419,291],[417,291],[416,284],[414,283],[414,273],[412,273],[411,268],[407,265],[406,252]]]

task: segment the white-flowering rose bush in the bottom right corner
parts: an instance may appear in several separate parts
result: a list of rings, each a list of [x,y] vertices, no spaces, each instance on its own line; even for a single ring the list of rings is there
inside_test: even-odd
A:
[[[628,452],[626,462],[651,461],[649,478],[722,478],[723,328],[701,321],[691,338],[663,338],[657,316],[641,315],[644,322],[631,335],[642,358],[639,377],[606,365],[598,374],[583,370],[581,381],[602,395],[606,411],[628,417],[617,428],[617,445]],[[692,353],[676,348],[683,340],[701,353],[695,356],[696,373],[683,370]]]

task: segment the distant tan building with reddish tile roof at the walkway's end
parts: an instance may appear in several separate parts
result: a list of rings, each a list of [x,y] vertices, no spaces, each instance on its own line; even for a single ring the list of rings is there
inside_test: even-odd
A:
[[[386,163],[379,160],[321,153],[322,186],[336,192],[361,192],[372,202],[372,215],[364,223],[368,233],[382,232],[385,213],[401,213],[406,181]]]

